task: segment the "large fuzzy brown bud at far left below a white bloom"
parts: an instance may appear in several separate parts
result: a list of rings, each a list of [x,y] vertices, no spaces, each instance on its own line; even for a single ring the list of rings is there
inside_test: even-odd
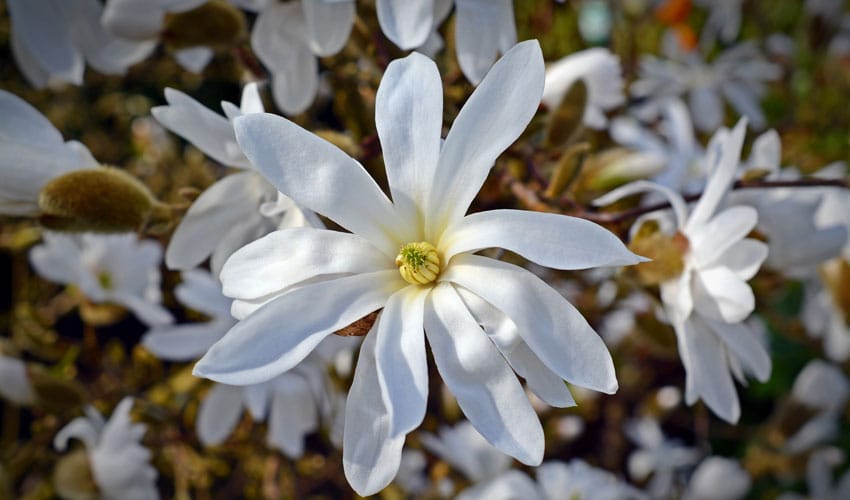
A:
[[[56,177],[41,189],[38,205],[48,229],[106,233],[137,230],[163,210],[147,186],[113,167]]]

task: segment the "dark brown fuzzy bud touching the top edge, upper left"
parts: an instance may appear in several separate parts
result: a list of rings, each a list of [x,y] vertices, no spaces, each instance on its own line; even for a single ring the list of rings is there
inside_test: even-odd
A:
[[[162,38],[180,50],[189,47],[232,47],[245,36],[245,15],[224,0],[212,0],[192,10],[168,14]]]

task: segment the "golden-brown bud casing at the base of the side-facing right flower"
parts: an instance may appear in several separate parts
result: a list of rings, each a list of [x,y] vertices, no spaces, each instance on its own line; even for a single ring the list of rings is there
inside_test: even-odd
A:
[[[632,269],[644,285],[658,285],[684,271],[688,239],[678,232],[672,236],[664,234],[659,231],[658,222],[646,221],[629,243],[629,250],[652,259]]]

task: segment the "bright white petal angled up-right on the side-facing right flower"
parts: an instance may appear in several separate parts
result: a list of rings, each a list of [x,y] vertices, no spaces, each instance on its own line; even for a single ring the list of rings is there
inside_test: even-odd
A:
[[[704,226],[688,230],[691,252],[699,266],[708,266],[741,241],[756,227],[758,212],[753,207],[735,206],[712,217]]]

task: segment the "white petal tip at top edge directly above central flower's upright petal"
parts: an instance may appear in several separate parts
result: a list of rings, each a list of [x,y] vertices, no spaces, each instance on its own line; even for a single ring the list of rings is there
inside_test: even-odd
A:
[[[377,0],[381,31],[402,50],[425,43],[433,30],[434,0]]]

